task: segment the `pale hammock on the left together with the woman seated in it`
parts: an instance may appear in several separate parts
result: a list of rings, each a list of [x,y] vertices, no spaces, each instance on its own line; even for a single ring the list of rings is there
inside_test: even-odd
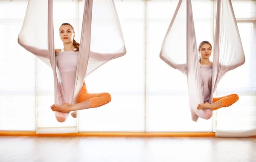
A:
[[[113,0],[85,0],[80,45],[74,40],[73,26],[63,23],[58,26],[64,48],[55,49],[53,19],[53,0],[29,0],[18,43],[52,68],[55,104],[51,109],[58,122],[64,122],[71,111],[76,117],[76,110],[111,101],[109,93],[88,93],[84,78],[125,55],[126,49]]]

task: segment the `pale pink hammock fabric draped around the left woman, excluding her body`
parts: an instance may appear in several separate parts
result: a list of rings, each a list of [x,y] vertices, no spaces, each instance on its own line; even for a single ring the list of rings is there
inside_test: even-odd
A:
[[[106,62],[125,55],[125,41],[113,0],[85,0],[76,78],[71,80],[75,86],[70,87],[73,93],[69,94],[73,101],[68,101],[70,96],[63,95],[61,81],[73,78],[60,76],[54,43],[54,24],[58,29],[66,22],[54,23],[53,9],[61,7],[53,7],[54,1],[29,0],[18,43],[52,67],[55,104],[76,104],[84,78]]]

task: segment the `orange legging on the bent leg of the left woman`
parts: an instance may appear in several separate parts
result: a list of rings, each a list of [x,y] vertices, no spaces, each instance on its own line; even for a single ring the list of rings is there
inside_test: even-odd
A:
[[[100,107],[111,101],[109,93],[88,93],[86,85],[83,84],[78,103],[89,100],[90,108]]]

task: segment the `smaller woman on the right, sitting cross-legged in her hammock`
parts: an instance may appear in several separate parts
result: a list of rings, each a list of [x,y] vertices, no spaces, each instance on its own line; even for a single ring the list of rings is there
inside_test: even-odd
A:
[[[212,117],[212,110],[228,107],[238,101],[239,97],[236,94],[231,94],[224,97],[213,98],[212,104],[209,104],[209,97],[212,91],[212,62],[209,60],[209,57],[212,54],[212,45],[208,41],[203,41],[199,45],[198,52],[200,54],[199,62],[201,64],[200,69],[204,103],[198,104],[197,109],[204,109],[200,115],[202,119],[210,119]],[[162,52],[160,53],[160,58],[170,67],[178,69],[180,72],[187,75],[186,64],[176,64],[174,61],[171,62],[170,60],[172,59],[166,58]]]

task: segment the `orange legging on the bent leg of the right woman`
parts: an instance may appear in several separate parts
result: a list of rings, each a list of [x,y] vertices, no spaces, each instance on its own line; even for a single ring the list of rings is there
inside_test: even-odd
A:
[[[212,98],[212,103],[215,103],[217,101],[221,101],[222,107],[229,107],[238,100],[239,100],[239,97],[238,97],[237,94],[231,94],[231,95],[226,95],[226,96],[223,96],[223,97]],[[215,108],[215,109],[212,109],[212,110],[218,110],[220,108],[221,107],[218,107],[218,108]]]

